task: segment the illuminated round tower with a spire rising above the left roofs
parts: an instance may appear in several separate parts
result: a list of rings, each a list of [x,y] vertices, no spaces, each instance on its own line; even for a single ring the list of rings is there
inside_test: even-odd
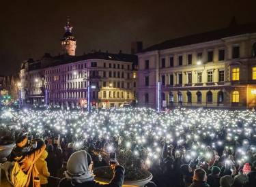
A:
[[[76,54],[76,39],[72,35],[72,26],[70,26],[70,18],[68,18],[68,24],[66,25],[63,38],[61,39],[61,46],[63,54],[74,56]]]

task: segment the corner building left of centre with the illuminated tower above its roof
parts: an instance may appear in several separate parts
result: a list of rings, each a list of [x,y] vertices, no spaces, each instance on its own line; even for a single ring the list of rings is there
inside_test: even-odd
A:
[[[29,59],[20,71],[23,104],[87,107],[119,107],[137,101],[138,57],[133,54],[91,52],[75,56],[72,27],[65,27],[63,54],[44,54],[40,61]],[[48,102],[45,95],[48,92]]]

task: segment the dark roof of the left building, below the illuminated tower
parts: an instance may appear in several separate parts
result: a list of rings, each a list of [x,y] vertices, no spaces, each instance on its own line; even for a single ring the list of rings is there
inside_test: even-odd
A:
[[[75,63],[79,61],[85,61],[89,59],[103,59],[109,61],[123,61],[123,62],[130,62],[130,63],[138,63],[138,56],[134,54],[113,54],[113,53],[106,53],[106,52],[92,52],[89,54],[85,54],[82,56],[65,56],[61,61],[55,61],[46,67],[55,67],[57,65],[64,65],[69,63]]]

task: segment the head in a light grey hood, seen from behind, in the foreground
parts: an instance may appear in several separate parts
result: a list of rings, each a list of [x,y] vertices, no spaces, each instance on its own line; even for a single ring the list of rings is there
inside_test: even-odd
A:
[[[91,173],[92,161],[91,156],[84,150],[74,152],[67,163],[67,170],[65,175],[68,180],[72,182],[83,183],[89,178],[93,179]]]

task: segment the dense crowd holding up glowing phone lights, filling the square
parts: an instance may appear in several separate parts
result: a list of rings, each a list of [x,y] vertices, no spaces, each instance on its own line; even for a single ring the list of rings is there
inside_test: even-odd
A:
[[[22,110],[0,118],[17,123],[0,121],[0,136],[16,141],[9,159],[29,173],[27,186],[99,186],[93,168],[109,165],[111,152],[124,167],[112,165],[109,186],[122,186],[127,167],[150,171],[147,186],[256,185],[256,114],[248,110]]]

